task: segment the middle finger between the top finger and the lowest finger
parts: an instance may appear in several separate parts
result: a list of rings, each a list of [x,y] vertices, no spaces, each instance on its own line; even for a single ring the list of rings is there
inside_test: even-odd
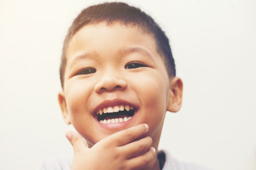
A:
[[[152,145],[152,138],[147,136],[127,145],[120,146],[120,152],[126,155],[126,158],[137,157],[146,153],[148,148]]]

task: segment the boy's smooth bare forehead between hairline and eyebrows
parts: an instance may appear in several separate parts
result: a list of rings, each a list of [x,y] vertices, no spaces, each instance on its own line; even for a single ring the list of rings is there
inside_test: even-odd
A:
[[[156,54],[157,47],[153,35],[140,26],[115,22],[107,26],[105,22],[83,26],[67,46],[67,63],[82,53],[118,52],[124,48],[144,48]],[[157,53],[158,54],[158,53]]]

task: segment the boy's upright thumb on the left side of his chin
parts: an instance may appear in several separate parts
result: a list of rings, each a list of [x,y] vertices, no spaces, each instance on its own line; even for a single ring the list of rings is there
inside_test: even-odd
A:
[[[78,152],[80,150],[83,150],[86,147],[85,142],[83,141],[82,137],[73,131],[68,131],[65,135],[69,142],[72,144],[74,152]]]

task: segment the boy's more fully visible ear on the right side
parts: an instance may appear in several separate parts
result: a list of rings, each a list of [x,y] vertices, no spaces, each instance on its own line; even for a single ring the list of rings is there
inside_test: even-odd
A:
[[[183,82],[179,77],[170,79],[170,94],[167,111],[176,113],[182,105]]]

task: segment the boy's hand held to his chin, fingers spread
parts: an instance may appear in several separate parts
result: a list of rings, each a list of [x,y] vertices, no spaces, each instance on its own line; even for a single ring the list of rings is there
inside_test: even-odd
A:
[[[67,132],[74,149],[72,170],[137,170],[146,166],[155,157],[152,139],[133,140],[147,131],[147,124],[139,124],[102,139],[92,148],[87,148],[77,133]]]

